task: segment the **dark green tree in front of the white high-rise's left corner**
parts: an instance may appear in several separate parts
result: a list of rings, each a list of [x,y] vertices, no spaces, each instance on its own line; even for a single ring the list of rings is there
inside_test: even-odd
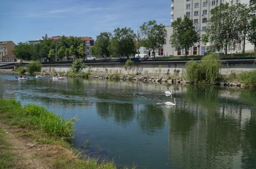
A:
[[[199,35],[195,31],[193,20],[184,16],[184,19],[178,17],[177,20],[172,22],[173,34],[171,35],[170,44],[175,50],[185,50],[185,55],[189,47],[194,46],[200,40]]]

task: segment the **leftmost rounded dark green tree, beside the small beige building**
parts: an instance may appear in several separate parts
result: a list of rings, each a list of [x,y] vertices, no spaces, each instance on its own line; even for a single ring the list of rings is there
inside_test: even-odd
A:
[[[32,56],[32,45],[28,43],[19,43],[14,47],[13,53],[16,58],[30,61]]]

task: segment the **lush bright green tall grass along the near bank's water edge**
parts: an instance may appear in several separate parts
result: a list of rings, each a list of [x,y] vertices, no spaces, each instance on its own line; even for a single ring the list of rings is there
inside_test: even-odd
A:
[[[10,124],[20,128],[43,130],[66,141],[73,138],[74,119],[63,119],[37,105],[22,107],[20,102],[15,100],[0,99],[0,105],[0,116],[8,119]]]

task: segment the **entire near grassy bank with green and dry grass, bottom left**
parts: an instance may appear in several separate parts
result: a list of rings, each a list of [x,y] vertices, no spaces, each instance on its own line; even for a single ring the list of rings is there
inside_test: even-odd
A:
[[[73,125],[73,119],[63,119],[44,107],[22,107],[18,101],[0,99],[0,168],[37,168],[33,166],[36,164],[48,168],[117,168],[113,162],[81,158],[69,143],[73,138]],[[8,130],[13,138],[5,137],[3,130]],[[23,152],[20,151],[22,145]],[[27,166],[26,160],[39,162]]]

